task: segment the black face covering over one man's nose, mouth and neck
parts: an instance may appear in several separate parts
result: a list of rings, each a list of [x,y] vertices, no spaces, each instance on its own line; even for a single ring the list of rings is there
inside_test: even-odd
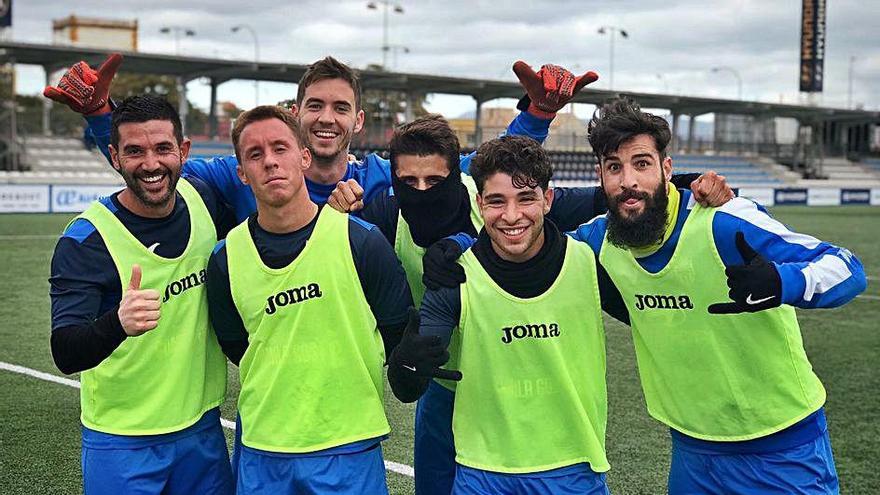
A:
[[[428,247],[459,232],[476,237],[470,217],[470,198],[459,172],[451,172],[430,189],[421,191],[405,184],[392,171],[391,185],[400,213],[418,246]]]

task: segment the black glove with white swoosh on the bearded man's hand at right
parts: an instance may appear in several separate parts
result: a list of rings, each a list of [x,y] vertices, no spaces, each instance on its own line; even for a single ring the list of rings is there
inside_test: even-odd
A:
[[[736,233],[736,248],[745,261],[744,265],[728,266],[728,295],[734,302],[709,306],[712,314],[755,313],[782,304],[782,279],[773,263],[758,254],[742,232]]]

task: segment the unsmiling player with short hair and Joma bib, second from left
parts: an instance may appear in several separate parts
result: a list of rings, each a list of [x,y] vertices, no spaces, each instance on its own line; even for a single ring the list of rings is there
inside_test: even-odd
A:
[[[241,372],[238,493],[387,493],[382,366],[412,304],[403,269],[373,225],[311,200],[291,112],[244,112],[232,141],[257,212],[217,245],[207,280]]]

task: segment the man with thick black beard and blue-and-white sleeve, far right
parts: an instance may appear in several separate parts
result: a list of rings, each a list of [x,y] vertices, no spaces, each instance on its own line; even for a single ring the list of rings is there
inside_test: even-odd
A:
[[[672,435],[669,492],[837,493],[794,307],[850,301],[859,260],[747,199],[695,204],[668,183],[668,124],[631,101],[599,109],[589,140],[608,215],[575,237],[629,310],[648,412]]]

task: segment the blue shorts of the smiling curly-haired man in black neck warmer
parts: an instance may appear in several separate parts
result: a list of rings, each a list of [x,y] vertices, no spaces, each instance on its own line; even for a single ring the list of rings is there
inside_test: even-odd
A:
[[[458,465],[453,495],[610,495],[605,473],[596,473],[587,464],[550,473],[507,474]]]

